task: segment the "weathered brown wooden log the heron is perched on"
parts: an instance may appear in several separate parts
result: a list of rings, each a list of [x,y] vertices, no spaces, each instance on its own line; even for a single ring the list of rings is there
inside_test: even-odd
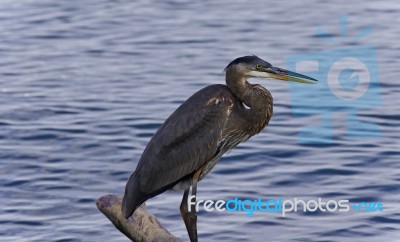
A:
[[[97,199],[97,208],[132,241],[183,241],[169,233],[143,203],[131,217],[121,213],[122,196],[105,195]]]

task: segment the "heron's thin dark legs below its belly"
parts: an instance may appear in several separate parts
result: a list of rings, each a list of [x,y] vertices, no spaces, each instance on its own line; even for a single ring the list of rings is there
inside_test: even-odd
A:
[[[196,196],[197,192],[197,181],[199,179],[200,171],[196,172],[192,178],[192,196]],[[183,199],[181,203],[181,215],[183,221],[186,225],[186,230],[188,231],[189,238],[191,242],[197,242],[197,215],[196,215],[196,197],[194,197],[194,202],[191,205],[190,212],[188,210],[188,197],[189,188],[187,188],[183,194]]]

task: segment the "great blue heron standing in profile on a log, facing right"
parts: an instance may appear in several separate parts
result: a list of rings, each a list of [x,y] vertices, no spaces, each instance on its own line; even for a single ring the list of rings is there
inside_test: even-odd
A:
[[[271,93],[247,79],[317,82],[274,67],[257,56],[237,58],[225,71],[226,86],[210,85],[193,94],[147,144],[125,187],[122,213],[126,218],[149,198],[180,188],[184,190],[181,216],[190,240],[197,241],[196,210],[193,205],[189,212],[187,203],[190,186],[195,196],[197,182],[211,171],[219,158],[259,133],[272,115]]]

